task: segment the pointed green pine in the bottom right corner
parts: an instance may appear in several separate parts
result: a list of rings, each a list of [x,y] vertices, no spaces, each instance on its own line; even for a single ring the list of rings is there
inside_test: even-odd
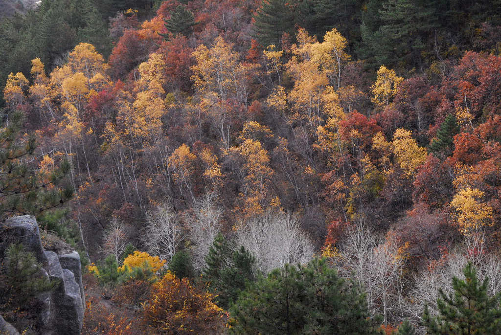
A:
[[[501,334],[500,294],[487,295],[488,278],[480,284],[475,267],[469,262],[463,269],[464,280],[452,278],[451,294],[439,290],[438,315],[430,315],[425,305],[423,324],[428,334]]]

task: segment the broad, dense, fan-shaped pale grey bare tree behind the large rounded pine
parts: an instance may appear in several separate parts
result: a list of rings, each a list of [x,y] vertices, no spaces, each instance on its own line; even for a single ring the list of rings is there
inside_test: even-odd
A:
[[[246,222],[236,235],[236,246],[249,250],[265,273],[287,263],[307,263],[315,253],[295,214],[268,211]]]

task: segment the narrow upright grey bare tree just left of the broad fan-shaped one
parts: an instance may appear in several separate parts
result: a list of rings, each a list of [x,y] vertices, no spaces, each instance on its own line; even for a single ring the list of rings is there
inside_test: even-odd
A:
[[[189,238],[193,243],[193,266],[201,270],[205,265],[205,256],[217,233],[221,229],[219,219],[223,213],[217,205],[214,192],[206,193],[197,199],[190,212],[185,215]]]

